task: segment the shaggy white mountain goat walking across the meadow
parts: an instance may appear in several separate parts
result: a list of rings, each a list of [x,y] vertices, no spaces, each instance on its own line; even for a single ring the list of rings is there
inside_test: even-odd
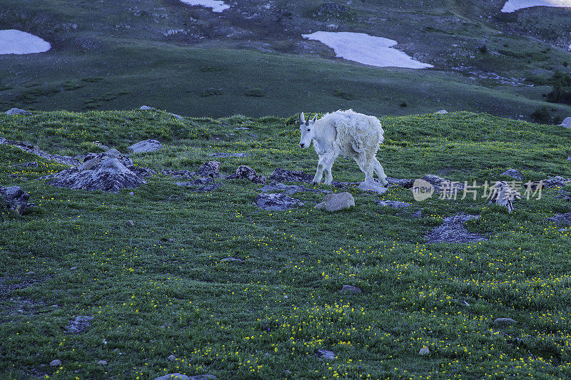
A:
[[[377,173],[380,183],[388,185],[387,176],[377,160],[376,154],[380,143],[383,143],[383,128],[375,116],[363,115],[353,110],[336,111],[317,115],[305,120],[303,112],[299,115],[301,140],[299,146],[308,148],[313,140],[313,148],[319,156],[319,163],[313,183],[320,183],[325,172],[325,185],[333,180],[331,167],[339,155],[350,157],[365,173],[365,181],[373,180],[373,171]]]

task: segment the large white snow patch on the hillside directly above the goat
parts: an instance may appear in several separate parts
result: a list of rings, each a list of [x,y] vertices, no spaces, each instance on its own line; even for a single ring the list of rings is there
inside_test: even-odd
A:
[[[428,68],[428,63],[415,61],[408,54],[391,48],[397,41],[350,31],[316,31],[302,34],[304,38],[317,40],[333,48],[340,58],[378,67]]]

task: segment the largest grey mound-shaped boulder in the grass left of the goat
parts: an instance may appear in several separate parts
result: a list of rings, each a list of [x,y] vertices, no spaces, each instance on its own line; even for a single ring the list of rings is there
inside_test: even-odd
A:
[[[110,149],[77,167],[40,179],[47,180],[49,185],[57,188],[118,192],[123,188],[137,188],[146,184],[143,178],[154,174],[151,169],[133,166],[129,158],[116,149]]]

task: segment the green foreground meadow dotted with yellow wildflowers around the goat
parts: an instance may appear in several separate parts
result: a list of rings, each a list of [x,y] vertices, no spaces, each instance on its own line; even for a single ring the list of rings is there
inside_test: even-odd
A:
[[[507,168],[525,180],[571,177],[565,128],[476,113],[381,122],[378,156],[395,178],[431,173],[483,183]],[[285,123],[38,112],[0,115],[0,136],[64,155],[93,151],[95,141],[125,152],[156,138],[166,148],[132,155],[137,165],[196,170],[211,153],[245,152],[251,156],[218,158],[221,171],[313,173],[315,153],[300,150],[298,128]],[[31,160],[37,168],[12,166]],[[0,184],[20,185],[39,205],[24,216],[4,211],[0,222],[1,379],[176,371],[218,379],[571,376],[570,230],[542,222],[571,211],[558,189],[517,202],[511,215],[485,199],[414,202],[399,187],[383,199],[413,202],[412,210],[381,208],[378,195],[354,190],[347,212],[313,210],[323,195],[308,192],[293,195],[305,206],[268,212],[252,205],[260,186],[243,180],[193,192],[157,175],[118,194],[35,180],[62,169],[0,145]],[[348,160],[333,169],[336,180],[363,179]],[[415,210],[420,220],[409,217]],[[424,245],[425,232],[456,212],[482,215],[466,226],[489,240]],[[341,294],[343,284],[363,294]],[[91,327],[66,332],[74,316],[94,317]],[[517,323],[494,324],[498,317]],[[423,346],[430,355],[418,355]],[[317,359],[318,349],[337,358]],[[178,359],[168,361],[171,354]],[[53,359],[62,365],[49,366]],[[108,364],[97,364],[102,359]]]

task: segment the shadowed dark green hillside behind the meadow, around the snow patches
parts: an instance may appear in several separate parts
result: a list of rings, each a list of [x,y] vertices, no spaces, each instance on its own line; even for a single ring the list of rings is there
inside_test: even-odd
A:
[[[571,72],[571,11],[502,14],[503,3],[238,0],[216,14],[178,0],[28,0],[25,6],[4,0],[0,29],[28,31],[53,47],[2,56],[0,109],[146,104],[181,115],[259,117],[302,109],[404,115],[445,108],[529,119],[546,106],[552,122],[565,118],[571,107],[546,103],[542,95],[551,91],[547,81],[555,71]],[[392,38],[435,68],[335,59],[323,44],[301,37],[318,30]]]

